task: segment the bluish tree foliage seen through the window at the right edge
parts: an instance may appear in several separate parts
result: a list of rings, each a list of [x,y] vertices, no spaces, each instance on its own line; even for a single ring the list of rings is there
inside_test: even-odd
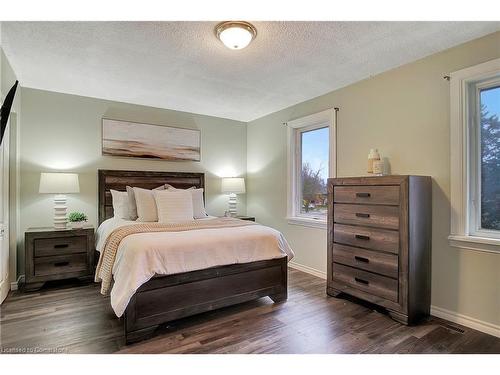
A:
[[[500,120],[481,106],[481,227],[500,230]]]

